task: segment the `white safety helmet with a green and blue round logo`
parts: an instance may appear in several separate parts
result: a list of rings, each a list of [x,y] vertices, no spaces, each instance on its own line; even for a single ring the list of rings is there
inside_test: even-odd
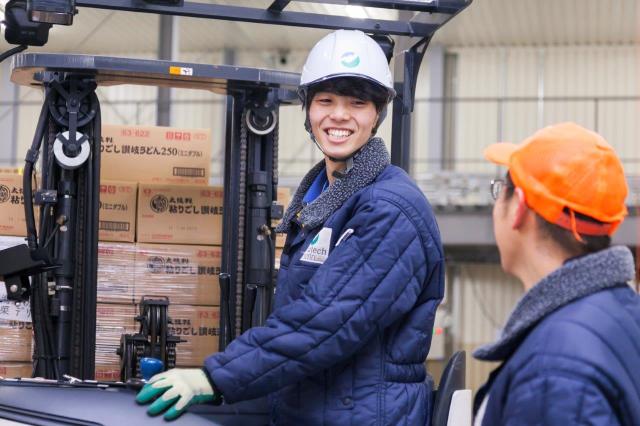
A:
[[[307,102],[309,86],[338,77],[359,77],[387,90],[391,101],[396,91],[382,48],[374,39],[358,30],[337,30],[326,35],[309,52],[302,68],[298,94]]]

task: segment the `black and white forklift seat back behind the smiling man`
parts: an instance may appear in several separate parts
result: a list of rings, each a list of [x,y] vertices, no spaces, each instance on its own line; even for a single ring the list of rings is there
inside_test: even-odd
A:
[[[449,359],[436,390],[431,426],[471,426],[471,390],[465,389],[464,351]]]

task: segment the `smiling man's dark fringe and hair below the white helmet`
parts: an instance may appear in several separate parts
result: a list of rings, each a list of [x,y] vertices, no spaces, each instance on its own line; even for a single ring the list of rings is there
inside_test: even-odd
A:
[[[379,84],[359,77],[339,77],[311,85],[307,92],[306,107],[309,106],[309,102],[318,92],[351,96],[365,102],[371,101],[378,113],[387,105],[387,100],[389,99],[387,90]]]

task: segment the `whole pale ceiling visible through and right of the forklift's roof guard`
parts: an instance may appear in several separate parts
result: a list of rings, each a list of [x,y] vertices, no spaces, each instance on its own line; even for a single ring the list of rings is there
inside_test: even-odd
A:
[[[447,46],[629,44],[640,40],[640,0],[474,0],[434,42]],[[200,0],[200,2],[203,2]],[[268,0],[208,0],[266,6]],[[3,2],[6,3],[6,2]],[[292,2],[291,10],[344,13],[345,6]],[[386,11],[367,9],[382,18]],[[395,12],[390,12],[395,13]],[[156,15],[80,8],[70,27],[56,26],[42,49],[73,53],[154,52]],[[322,30],[180,18],[180,49],[307,49]],[[0,48],[8,48],[2,40]]]

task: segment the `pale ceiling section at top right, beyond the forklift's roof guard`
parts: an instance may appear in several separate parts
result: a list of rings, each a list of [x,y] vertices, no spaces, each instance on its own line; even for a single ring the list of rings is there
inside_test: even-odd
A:
[[[436,37],[445,45],[629,44],[638,0],[474,0]]]

